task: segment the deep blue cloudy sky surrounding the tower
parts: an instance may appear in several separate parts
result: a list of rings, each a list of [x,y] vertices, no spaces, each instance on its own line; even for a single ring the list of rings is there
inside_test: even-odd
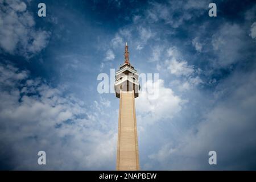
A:
[[[256,3],[234,0],[0,0],[0,169],[115,169],[119,100],[97,76],[125,42],[159,73],[136,98],[142,170],[256,169]]]

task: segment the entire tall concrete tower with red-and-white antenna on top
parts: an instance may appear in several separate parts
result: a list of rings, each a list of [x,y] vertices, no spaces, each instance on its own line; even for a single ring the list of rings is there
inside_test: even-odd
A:
[[[115,73],[115,96],[119,98],[117,170],[139,170],[135,97],[139,96],[138,72],[130,64],[127,43],[125,61]]]

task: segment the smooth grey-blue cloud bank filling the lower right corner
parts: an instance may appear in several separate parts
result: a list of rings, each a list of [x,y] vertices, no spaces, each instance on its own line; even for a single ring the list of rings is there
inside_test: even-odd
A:
[[[239,72],[221,82],[216,91],[222,95],[201,122],[183,132],[181,138],[165,142],[148,158],[165,170],[254,169],[255,78],[255,71]],[[208,164],[211,150],[217,152],[214,167]]]

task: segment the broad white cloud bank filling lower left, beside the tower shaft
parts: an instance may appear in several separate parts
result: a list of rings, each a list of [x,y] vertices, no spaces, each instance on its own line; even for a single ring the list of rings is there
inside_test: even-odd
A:
[[[114,169],[113,113],[88,110],[76,97],[64,96],[61,86],[29,77],[0,64],[0,143],[5,146],[0,162],[10,159],[5,161],[10,169]],[[104,98],[100,102],[110,105]],[[40,150],[47,154],[43,167],[37,164]]]

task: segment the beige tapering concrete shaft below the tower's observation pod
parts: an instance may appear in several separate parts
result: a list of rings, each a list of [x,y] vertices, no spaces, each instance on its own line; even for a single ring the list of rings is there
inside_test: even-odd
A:
[[[137,121],[133,91],[120,92],[117,170],[139,170]]]

